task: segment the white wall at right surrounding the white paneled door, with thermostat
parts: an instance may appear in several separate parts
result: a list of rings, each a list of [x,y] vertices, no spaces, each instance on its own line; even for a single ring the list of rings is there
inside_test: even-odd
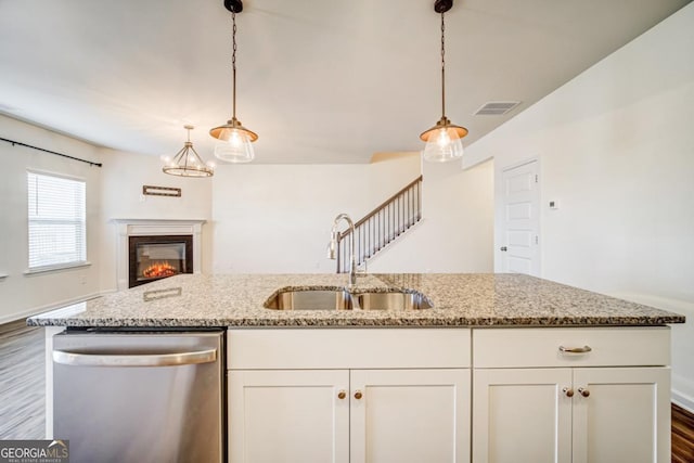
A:
[[[690,4],[473,144],[467,158],[494,158],[497,217],[501,170],[540,158],[543,278],[689,317],[673,327],[672,380],[690,408],[693,50]]]

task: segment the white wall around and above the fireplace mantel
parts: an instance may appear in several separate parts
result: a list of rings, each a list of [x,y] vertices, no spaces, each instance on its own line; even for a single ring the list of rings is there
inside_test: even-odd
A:
[[[205,157],[205,156],[203,156]],[[207,157],[205,157],[207,158]],[[113,219],[211,219],[211,178],[182,178],[162,171],[162,160],[120,151],[103,150],[102,290],[116,288],[117,232]],[[144,196],[142,185],[180,188],[181,196]],[[211,223],[203,224],[202,271],[211,269]]]

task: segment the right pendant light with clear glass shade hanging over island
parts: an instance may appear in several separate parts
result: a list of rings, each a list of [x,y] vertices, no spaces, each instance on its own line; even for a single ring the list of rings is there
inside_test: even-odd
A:
[[[424,160],[446,163],[463,156],[460,139],[467,134],[465,127],[455,126],[446,117],[446,22],[444,13],[451,9],[453,0],[436,0],[434,11],[441,14],[441,118],[434,127],[420,136],[426,142],[422,152]]]

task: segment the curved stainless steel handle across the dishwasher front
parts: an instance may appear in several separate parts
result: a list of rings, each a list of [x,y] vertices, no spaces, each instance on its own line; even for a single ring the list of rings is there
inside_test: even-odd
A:
[[[53,350],[53,361],[72,366],[180,366],[217,361],[217,349],[181,353],[77,353]]]

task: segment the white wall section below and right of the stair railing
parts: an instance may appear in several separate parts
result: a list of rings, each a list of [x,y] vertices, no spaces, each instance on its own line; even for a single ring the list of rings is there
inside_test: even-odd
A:
[[[424,219],[369,262],[370,272],[492,271],[493,163],[424,163]]]

